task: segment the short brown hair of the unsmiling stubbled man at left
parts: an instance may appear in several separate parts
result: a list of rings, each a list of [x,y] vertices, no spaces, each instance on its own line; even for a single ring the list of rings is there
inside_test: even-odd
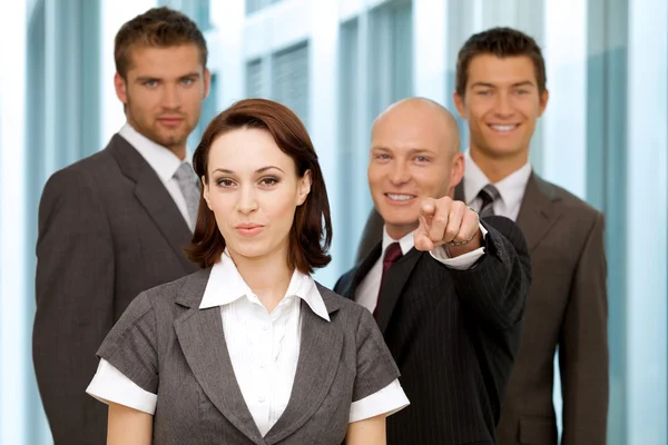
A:
[[[184,13],[167,7],[149,9],[125,23],[116,34],[116,71],[127,80],[130,52],[135,47],[167,48],[188,43],[197,46],[202,66],[206,67],[208,50],[197,24]]]

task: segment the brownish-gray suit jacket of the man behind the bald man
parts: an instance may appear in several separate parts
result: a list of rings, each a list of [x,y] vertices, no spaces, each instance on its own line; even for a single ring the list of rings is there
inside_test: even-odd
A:
[[[463,186],[455,198],[463,199]],[[553,362],[559,349],[563,445],[605,445],[608,416],[608,296],[603,216],[532,174],[518,216],[533,275],[522,342],[508,384],[499,444],[556,444]],[[372,212],[358,256],[382,237]]]

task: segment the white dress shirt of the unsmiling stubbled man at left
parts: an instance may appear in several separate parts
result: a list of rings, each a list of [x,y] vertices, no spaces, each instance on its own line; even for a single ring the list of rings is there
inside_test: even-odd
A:
[[[186,198],[184,194],[180,191],[178,187],[178,182],[174,177],[174,174],[181,165],[181,162],[190,164],[188,156],[183,161],[176,156],[171,150],[166,147],[163,147],[153,140],[148,139],[146,136],[141,135],[137,130],[135,130],[129,123],[126,123],[118,131],[125,140],[127,140],[146,161],[149,166],[158,174],[160,181],[165,185],[169,195],[171,195],[171,199],[176,202],[178,210],[184,216],[184,219],[188,224],[190,230],[194,230],[193,221],[190,220],[190,215],[188,214],[188,206],[186,205]],[[190,168],[191,168],[190,164]],[[194,175],[194,174],[193,174]]]

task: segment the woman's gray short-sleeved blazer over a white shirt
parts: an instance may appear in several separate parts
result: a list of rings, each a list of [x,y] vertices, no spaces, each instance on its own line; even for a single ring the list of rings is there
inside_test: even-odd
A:
[[[399,377],[369,310],[318,285],[331,322],[302,303],[302,345],[287,407],[266,434],[250,416],[220,308],[199,309],[210,268],[141,293],[98,350],[157,394],[154,444],[341,444],[351,404]]]

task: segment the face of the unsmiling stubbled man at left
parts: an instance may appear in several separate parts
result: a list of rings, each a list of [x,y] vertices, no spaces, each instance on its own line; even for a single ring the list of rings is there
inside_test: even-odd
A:
[[[180,159],[197,126],[210,75],[196,44],[137,47],[130,51],[126,79],[114,78],[116,95],[126,106],[128,123]]]

